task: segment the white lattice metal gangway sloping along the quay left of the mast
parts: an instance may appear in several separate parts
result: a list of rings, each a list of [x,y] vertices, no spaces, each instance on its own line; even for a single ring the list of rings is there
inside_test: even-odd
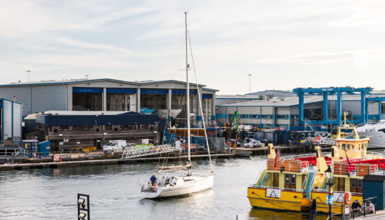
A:
[[[148,147],[136,148],[136,149],[126,149],[123,151],[123,154],[121,155],[121,159],[129,159],[129,158],[139,157],[139,156],[172,152],[174,151],[174,149],[175,148],[172,147],[170,144],[148,146]]]

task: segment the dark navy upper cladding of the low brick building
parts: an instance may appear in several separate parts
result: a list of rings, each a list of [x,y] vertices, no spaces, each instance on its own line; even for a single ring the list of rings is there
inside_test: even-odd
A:
[[[106,124],[154,124],[159,121],[156,114],[117,114],[117,115],[36,115],[36,123],[45,126],[81,126]]]

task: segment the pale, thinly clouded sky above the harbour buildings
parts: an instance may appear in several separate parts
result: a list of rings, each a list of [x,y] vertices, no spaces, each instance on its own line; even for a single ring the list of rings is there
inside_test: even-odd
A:
[[[347,85],[385,89],[385,1],[0,0],[0,5],[1,84],[28,81],[26,70],[29,81],[185,81],[188,11],[198,83],[218,94]],[[189,63],[192,67],[190,52]]]

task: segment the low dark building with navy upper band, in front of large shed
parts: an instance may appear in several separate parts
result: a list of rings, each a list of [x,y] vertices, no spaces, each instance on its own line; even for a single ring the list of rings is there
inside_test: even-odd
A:
[[[134,111],[46,111],[35,118],[37,140],[49,140],[54,151],[88,146],[100,149],[114,139],[128,143],[150,139],[158,144],[157,131],[164,130],[161,126],[165,125],[165,119],[159,120],[156,114]]]

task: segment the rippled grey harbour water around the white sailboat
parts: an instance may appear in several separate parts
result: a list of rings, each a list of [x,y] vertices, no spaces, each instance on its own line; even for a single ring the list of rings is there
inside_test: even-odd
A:
[[[247,185],[265,162],[266,156],[213,159],[212,189],[160,200],[141,198],[137,186],[156,162],[1,171],[0,219],[75,219],[77,193],[89,194],[91,219],[301,219],[300,213],[250,206]],[[193,164],[194,172],[209,170],[207,160]]]

